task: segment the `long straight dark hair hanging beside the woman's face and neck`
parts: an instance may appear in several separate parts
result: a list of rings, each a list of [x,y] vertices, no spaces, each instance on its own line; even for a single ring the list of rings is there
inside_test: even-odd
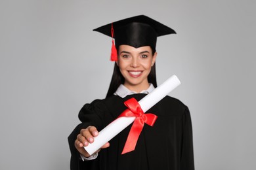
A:
[[[152,54],[154,54],[155,52],[156,51],[153,50]],[[115,63],[112,79],[111,79],[111,82],[110,82],[110,87],[108,88],[108,93],[107,93],[106,97],[109,97],[110,95],[113,95],[116,92],[117,88],[121,84],[123,84],[124,82],[125,82],[125,78],[121,74],[117,63]],[[157,87],[157,83],[156,83],[156,62],[152,66],[151,71],[148,75],[148,82],[152,83],[155,88]]]

